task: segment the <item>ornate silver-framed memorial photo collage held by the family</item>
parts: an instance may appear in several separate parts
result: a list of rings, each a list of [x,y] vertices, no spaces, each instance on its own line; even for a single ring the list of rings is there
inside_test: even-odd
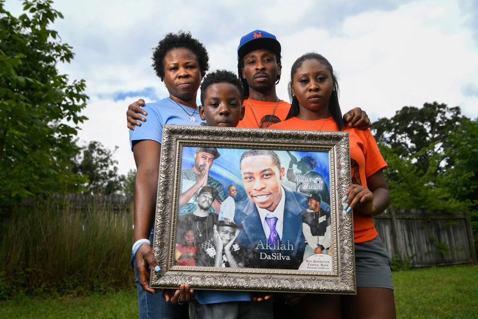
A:
[[[165,126],[153,288],[355,294],[349,135]]]

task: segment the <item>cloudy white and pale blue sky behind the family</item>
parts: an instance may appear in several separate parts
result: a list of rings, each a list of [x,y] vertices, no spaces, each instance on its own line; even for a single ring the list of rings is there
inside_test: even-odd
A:
[[[219,2],[219,1],[218,1]],[[339,75],[342,111],[363,108],[372,121],[425,102],[478,116],[478,2],[463,1],[55,1],[55,22],[75,59],[59,65],[85,79],[90,96],[80,139],[113,149],[120,173],[134,167],[125,111],[137,98],[167,96],[151,67],[152,48],[168,32],[191,31],[210,54],[210,70],[237,72],[245,33],[267,30],[282,45],[279,98],[288,101],[290,66],[315,51]],[[294,3],[294,4],[293,4]],[[21,3],[7,0],[18,15]]]

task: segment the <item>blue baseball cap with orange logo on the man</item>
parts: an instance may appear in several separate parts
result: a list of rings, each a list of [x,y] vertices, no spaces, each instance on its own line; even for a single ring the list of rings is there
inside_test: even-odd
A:
[[[238,61],[247,53],[257,49],[271,50],[280,56],[280,43],[275,35],[264,30],[254,30],[240,38]]]

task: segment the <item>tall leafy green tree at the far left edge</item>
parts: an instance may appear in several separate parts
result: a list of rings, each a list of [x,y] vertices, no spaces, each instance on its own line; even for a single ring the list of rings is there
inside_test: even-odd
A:
[[[57,63],[72,47],[48,28],[62,14],[51,0],[23,1],[14,17],[0,0],[0,205],[39,193],[78,189],[73,143],[88,97],[85,81],[69,81]],[[27,12],[27,13],[26,13]],[[74,123],[74,125],[68,124]]]

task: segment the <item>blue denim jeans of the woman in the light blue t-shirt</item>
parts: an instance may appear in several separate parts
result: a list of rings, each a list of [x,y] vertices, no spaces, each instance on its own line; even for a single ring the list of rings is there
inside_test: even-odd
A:
[[[149,241],[153,242],[153,235],[149,236]],[[144,291],[139,284],[139,276],[136,270],[136,259],[131,256],[131,263],[134,268],[136,289],[138,291],[138,310],[140,319],[180,319],[188,318],[188,304],[176,306],[166,303],[161,291],[156,294]]]

